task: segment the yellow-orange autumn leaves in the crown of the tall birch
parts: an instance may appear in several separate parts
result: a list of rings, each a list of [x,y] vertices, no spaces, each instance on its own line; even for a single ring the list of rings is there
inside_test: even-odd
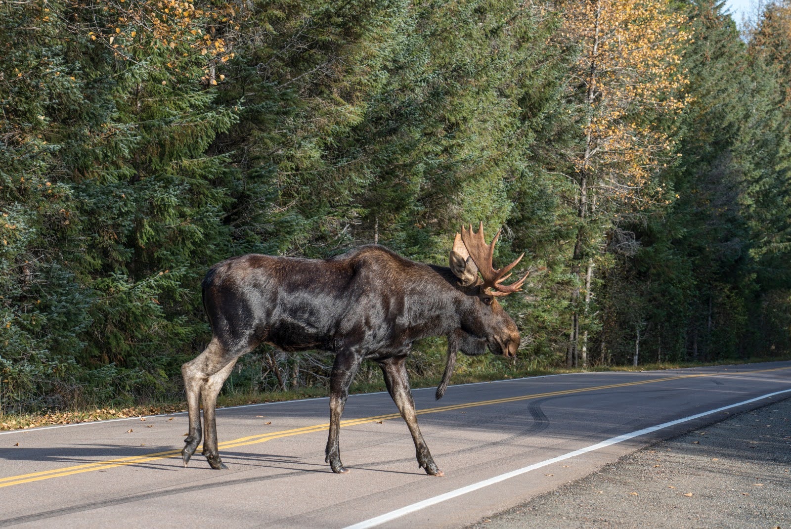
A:
[[[676,115],[687,103],[681,50],[691,34],[666,0],[563,2],[566,37],[581,48],[573,76],[586,119],[577,156],[604,196],[633,203],[663,200],[650,185],[672,140],[646,116]],[[647,191],[650,188],[650,192]]]

